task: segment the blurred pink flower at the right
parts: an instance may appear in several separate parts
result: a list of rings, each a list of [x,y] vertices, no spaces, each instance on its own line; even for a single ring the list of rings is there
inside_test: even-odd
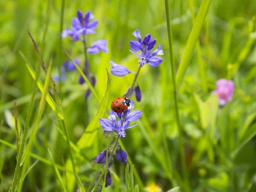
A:
[[[218,94],[219,105],[223,106],[227,102],[232,100],[234,93],[234,82],[227,81],[226,79],[219,79],[216,82],[216,90],[213,91],[214,94]]]

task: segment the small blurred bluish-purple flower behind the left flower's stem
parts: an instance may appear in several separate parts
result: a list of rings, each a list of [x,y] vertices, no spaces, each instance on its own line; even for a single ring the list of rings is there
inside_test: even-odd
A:
[[[79,65],[79,60],[77,58],[74,59],[75,63],[77,65]],[[77,68],[76,66],[73,64],[72,61],[64,61],[61,65],[61,68],[60,68],[60,75],[61,77],[59,76],[59,74],[55,74],[54,75],[54,81],[58,82],[58,81],[62,81],[64,82],[65,79],[66,79],[66,71],[76,71]]]

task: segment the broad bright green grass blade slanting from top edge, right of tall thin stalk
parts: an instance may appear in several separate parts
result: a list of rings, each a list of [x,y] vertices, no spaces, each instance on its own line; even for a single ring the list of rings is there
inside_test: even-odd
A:
[[[188,41],[187,41],[184,53],[183,53],[182,58],[179,63],[179,69],[178,69],[177,75],[176,75],[177,88],[179,88],[179,86],[183,80],[183,77],[185,76],[185,73],[187,71],[188,65],[192,59],[192,56],[193,56],[193,53],[194,53],[194,50],[196,47],[196,42],[197,42],[200,32],[202,30],[203,22],[206,17],[206,14],[208,12],[210,2],[211,2],[211,0],[202,0],[202,3],[200,5],[200,8],[196,15],[194,25],[193,25],[190,35],[188,37]]]

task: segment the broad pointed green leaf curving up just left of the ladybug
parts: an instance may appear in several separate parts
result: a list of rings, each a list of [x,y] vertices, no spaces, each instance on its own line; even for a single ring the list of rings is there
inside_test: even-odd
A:
[[[100,102],[100,107],[97,111],[97,114],[93,117],[91,122],[86,127],[85,132],[82,134],[82,137],[77,142],[77,146],[80,149],[90,147],[93,144],[94,138],[96,137],[98,132],[97,127],[99,126],[99,118],[105,115],[106,109],[109,104],[108,101],[110,96],[110,87],[111,87],[111,78],[107,70],[107,87],[106,87],[105,93]]]

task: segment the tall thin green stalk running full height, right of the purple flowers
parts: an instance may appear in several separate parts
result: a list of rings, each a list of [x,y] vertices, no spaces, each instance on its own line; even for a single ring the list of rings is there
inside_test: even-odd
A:
[[[189,191],[189,179],[188,172],[185,161],[185,151],[183,146],[183,133],[182,127],[179,118],[179,106],[178,106],[178,95],[177,95],[177,87],[175,81],[175,69],[174,69],[174,51],[173,51],[173,42],[172,42],[172,28],[171,28],[171,19],[170,19],[170,10],[169,10],[169,1],[165,0],[165,11],[166,11],[166,22],[167,22],[167,30],[168,30],[168,42],[169,42],[169,51],[170,51],[170,60],[171,60],[171,68],[172,68],[172,83],[173,83],[173,97],[174,97],[174,108],[175,108],[175,117],[176,123],[179,130],[179,153],[181,157],[182,164],[182,172],[183,177],[185,179],[188,191]]]

